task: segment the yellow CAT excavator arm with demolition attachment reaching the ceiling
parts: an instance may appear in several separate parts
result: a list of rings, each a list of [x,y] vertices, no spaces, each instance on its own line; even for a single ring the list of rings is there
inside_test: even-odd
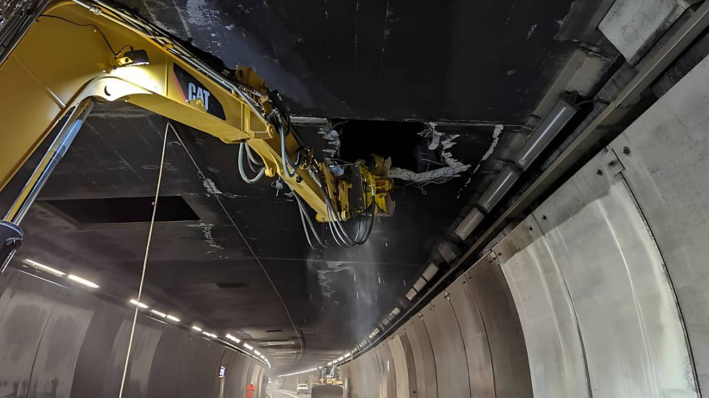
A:
[[[382,159],[333,174],[251,68],[215,70],[155,25],[101,1],[50,1],[0,64],[0,84],[0,189],[69,110],[90,99],[127,101],[240,144],[240,166],[254,161],[260,174],[282,178],[320,222],[393,210]]]

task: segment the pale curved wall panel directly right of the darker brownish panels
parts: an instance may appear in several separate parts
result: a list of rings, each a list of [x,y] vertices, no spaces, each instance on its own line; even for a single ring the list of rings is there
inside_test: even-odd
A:
[[[591,392],[576,313],[541,228],[529,218],[495,251],[520,316],[535,394],[588,397]]]

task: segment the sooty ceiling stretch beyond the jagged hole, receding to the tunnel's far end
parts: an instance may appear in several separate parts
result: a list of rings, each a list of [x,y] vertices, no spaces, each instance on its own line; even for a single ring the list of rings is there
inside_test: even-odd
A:
[[[30,258],[81,275],[100,286],[96,295],[128,305],[138,290],[166,123],[123,103],[97,106],[23,221],[26,243],[13,266]],[[403,152],[415,159],[411,137],[421,123],[398,130],[363,123],[342,125],[343,144],[354,131],[389,132],[385,155],[417,167]],[[403,299],[468,200],[464,177],[423,191],[398,183],[396,212],[377,220],[367,244],[313,250],[284,191],[276,195],[269,178],[241,181],[237,147],[176,127],[184,146],[169,133],[143,301],[220,336],[275,344],[261,350],[275,359],[274,371],[332,360],[367,336]],[[475,165],[492,127],[459,130],[456,156]],[[302,132],[317,147],[318,135]],[[3,191],[2,205],[42,153]]]

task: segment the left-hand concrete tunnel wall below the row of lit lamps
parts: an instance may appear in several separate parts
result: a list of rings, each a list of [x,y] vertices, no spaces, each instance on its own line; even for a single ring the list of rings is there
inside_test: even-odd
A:
[[[0,276],[0,397],[116,398],[133,312],[9,269]],[[123,397],[261,397],[264,367],[199,335],[139,316]]]

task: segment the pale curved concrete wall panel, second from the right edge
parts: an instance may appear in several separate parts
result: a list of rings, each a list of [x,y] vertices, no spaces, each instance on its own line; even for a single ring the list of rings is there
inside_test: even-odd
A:
[[[613,151],[598,155],[534,217],[569,289],[593,391],[691,397],[691,361],[674,292],[621,173]]]

